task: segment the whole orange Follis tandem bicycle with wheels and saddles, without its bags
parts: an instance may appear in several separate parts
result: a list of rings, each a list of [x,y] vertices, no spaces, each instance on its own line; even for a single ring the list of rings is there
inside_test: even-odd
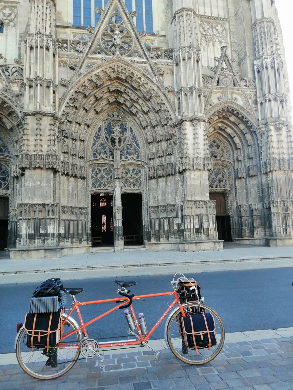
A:
[[[204,298],[201,298],[198,301],[189,302],[188,298],[191,296],[191,289],[189,289],[189,287],[186,287],[188,295],[179,295],[178,290],[181,285],[179,280],[180,278],[177,280],[173,279],[171,282],[172,291],[170,292],[138,296],[130,294],[130,290],[128,290],[128,287],[136,285],[136,282],[121,282],[116,280],[115,282],[118,285],[117,292],[122,296],[121,298],[88,302],[79,302],[75,298],[77,294],[83,291],[82,288],[63,288],[63,291],[72,297],[73,303],[68,314],[63,312],[63,337],[57,346],[49,351],[49,355],[50,353],[55,355],[56,363],[54,365],[46,365],[45,363],[48,358],[48,353],[45,353],[45,351],[41,349],[30,349],[26,346],[26,331],[24,326],[22,326],[18,331],[15,340],[15,350],[18,363],[27,374],[34,378],[54,379],[68,372],[75,365],[77,360],[79,360],[80,355],[82,355],[82,358],[86,359],[98,358],[99,364],[102,366],[104,360],[103,351],[109,349],[146,347],[154,351],[155,358],[157,359],[159,351],[148,345],[148,341],[157,326],[159,326],[168,315],[169,316],[165,325],[165,341],[173,354],[182,362],[192,365],[200,365],[210,362],[218,355],[218,353],[220,353],[223,347],[225,331],[222,320],[212,308],[203,304]],[[140,315],[139,318],[136,317],[132,302],[143,298],[158,296],[173,296],[173,302],[168,305],[167,310],[161,315],[152,329],[148,331],[144,316]],[[82,314],[80,313],[80,307],[84,305],[111,302],[114,304],[117,303],[118,305],[115,305],[105,313],[100,314],[94,319],[84,323]],[[129,338],[126,340],[112,340],[105,342],[89,338],[86,327],[118,309],[125,309],[124,314],[129,325]],[[74,310],[77,312],[80,324],[71,317]],[[182,330],[180,330],[179,321],[180,317],[186,317],[200,312],[210,313],[213,316],[216,345],[210,346],[209,348],[195,350],[186,346],[186,343],[182,338]],[[127,326],[127,323],[125,322],[125,326]]]

